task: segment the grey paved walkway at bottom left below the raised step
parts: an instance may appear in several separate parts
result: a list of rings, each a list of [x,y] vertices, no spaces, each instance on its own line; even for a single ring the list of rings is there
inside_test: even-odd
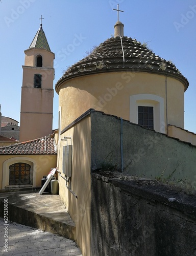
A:
[[[1,256],[82,256],[80,249],[72,240],[16,222],[8,222],[7,225],[3,218],[0,218],[0,246]]]

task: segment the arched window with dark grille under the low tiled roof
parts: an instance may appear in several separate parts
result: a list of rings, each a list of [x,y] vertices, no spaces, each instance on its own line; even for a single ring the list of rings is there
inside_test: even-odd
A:
[[[9,185],[31,184],[31,165],[14,163],[10,165]]]

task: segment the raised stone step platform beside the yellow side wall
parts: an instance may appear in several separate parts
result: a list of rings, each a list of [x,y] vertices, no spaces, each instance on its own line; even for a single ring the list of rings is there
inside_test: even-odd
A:
[[[0,217],[8,201],[8,220],[75,240],[76,227],[59,195],[10,191],[0,194]]]

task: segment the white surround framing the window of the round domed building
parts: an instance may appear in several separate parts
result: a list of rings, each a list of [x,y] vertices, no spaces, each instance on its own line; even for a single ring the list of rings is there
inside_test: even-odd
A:
[[[164,118],[164,99],[154,94],[136,94],[130,96],[130,122],[138,124],[138,106],[153,106],[154,130],[166,133]]]

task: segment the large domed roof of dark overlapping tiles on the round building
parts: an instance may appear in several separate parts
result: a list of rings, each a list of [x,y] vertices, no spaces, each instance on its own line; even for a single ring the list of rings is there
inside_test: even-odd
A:
[[[76,76],[112,71],[168,75],[183,82],[185,90],[189,84],[173,63],[155,55],[136,39],[117,36],[107,39],[87,57],[68,68],[56,83],[56,91],[58,92],[58,87],[64,80]]]

